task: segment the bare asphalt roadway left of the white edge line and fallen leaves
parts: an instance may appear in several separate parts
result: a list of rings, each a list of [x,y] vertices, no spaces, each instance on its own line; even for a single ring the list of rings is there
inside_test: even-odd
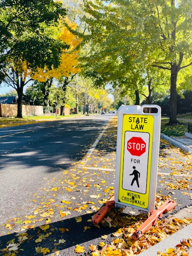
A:
[[[79,161],[112,115],[0,129],[0,223],[31,206],[47,180]]]

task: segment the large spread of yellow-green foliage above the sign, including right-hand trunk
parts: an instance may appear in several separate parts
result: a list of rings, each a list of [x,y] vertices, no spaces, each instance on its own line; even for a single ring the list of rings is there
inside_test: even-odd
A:
[[[154,84],[162,85],[159,71],[165,71],[164,77],[168,71],[170,124],[176,123],[178,74],[192,65],[192,0],[86,1],[85,11],[85,75],[94,77],[96,84],[112,81],[124,86],[135,70],[143,83],[150,69],[148,81],[158,79]]]

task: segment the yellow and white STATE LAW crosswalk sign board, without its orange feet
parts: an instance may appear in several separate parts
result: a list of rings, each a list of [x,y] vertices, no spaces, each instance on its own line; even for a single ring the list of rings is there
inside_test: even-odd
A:
[[[115,203],[154,210],[161,108],[121,106],[118,110]]]

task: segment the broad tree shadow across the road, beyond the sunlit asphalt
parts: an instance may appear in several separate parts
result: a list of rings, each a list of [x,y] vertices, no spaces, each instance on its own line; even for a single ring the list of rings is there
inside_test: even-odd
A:
[[[68,168],[85,156],[104,124],[97,119],[51,121],[1,131],[0,169],[7,165],[25,169],[45,166],[52,173],[58,172],[58,168]]]

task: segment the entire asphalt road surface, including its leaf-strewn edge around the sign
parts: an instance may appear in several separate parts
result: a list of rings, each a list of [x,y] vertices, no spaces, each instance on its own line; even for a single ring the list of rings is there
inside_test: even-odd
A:
[[[58,250],[59,255],[75,256],[74,249],[78,244],[85,248],[85,252],[78,255],[87,256],[91,254],[91,244],[110,243],[117,227],[98,228],[90,219],[102,206],[98,201],[109,198],[109,188],[114,186],[116,130],[107,127],[92,151],[92,144],[112,116],[88,116],[0,129],[0,224],[17,217],[7,222],[14,225],[13,229],[0,225],[0,249],[6,247],[7,241],[16,239],[13,232],[20,220],[36,222],[35,227],[29,227],[27,231],[28,239],[19,245],[22,250],[18,250],[18,256],[36,255],[37,247],[49,248],[50,255],[57,255]],[[156,198],[175,200],[177,206],[172,214],[192,204],[190,164],[186,161],[188,158],[179,149],[161,140]],[[54,191],[58,187],[58,191]],[[48,215],[52,208],[50,227],[43,231],[40,227],[46,219],[40,221],[40,213],[46,210]],[[61,218],[61,209],[70,214]],[[35,211],[38,211],[35,217],[25,216],[34,215]],[[127,207],[124,213],[129,214],[129,211],[135,210]],[[49,236],[37,242],[43,234]],[[101,237],[104,235],[106,239]],[[58,243],[63,239],[65,243]]]

